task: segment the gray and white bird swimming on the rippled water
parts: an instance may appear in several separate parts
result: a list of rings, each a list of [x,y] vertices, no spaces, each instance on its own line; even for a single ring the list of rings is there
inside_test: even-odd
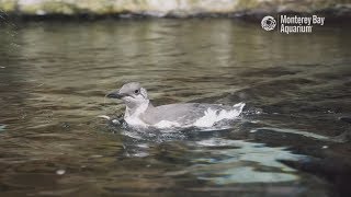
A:
[[[126,105],[124,120],[135,127],[212,127],[224,119],[235,119],[240,115],[245,103],[234,106],[222,104],[177,103],[154,106],[146,89],[138,82],[124,84],[107,97],[120,99]]]

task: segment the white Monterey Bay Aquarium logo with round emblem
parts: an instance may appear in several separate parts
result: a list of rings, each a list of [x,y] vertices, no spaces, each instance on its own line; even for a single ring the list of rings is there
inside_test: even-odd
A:
[[[261,21],[261,26],[265,31],[276,28],[280,33],[312,33],[314,25],[322,26],[326,18],[318,15],[298,16],[298,15],[280,15],[278,21],[271,15],[267,15]]]

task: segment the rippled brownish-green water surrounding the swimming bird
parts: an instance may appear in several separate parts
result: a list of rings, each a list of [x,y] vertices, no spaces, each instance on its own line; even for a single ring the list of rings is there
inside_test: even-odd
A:
[[[348,196],[351,30],[328,25],[2,23],[0,196]],[[220,131],[125,130],[98,116],[123,113],[104,95],[126,81],[247,106]]]

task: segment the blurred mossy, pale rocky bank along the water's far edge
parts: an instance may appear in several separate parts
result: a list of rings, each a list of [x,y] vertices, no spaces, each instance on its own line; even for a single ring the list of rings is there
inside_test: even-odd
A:
[[[282,12],[350,16],[351,0],[0,0],[10,15],[261,16]]]

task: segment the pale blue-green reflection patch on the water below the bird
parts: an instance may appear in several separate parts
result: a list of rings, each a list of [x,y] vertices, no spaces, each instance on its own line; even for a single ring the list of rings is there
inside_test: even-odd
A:
[[[199,141],[196,151],[205,152],[215,158],[193,160],[193,172],[202,179],[216,184],[233,183],[275,183],[298,179],[294,169],[279,160],[298,161],[306,157],[293,154],[284,148],[270,148],[262,143],[241,140],[215,139]],[[211,150],[202,148],[211,147]],[[219,149],[224,147],[224,149]],[[226,148],[229,147],[229,148]]]

